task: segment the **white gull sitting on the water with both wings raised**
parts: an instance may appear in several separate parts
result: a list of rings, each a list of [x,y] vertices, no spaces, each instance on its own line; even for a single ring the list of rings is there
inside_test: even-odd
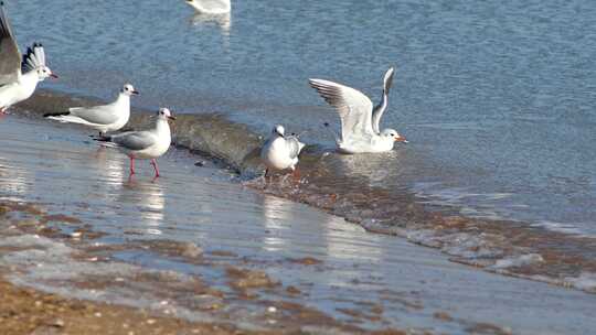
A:
[[[373,108],[369,97],[360,90],[338,83],[310,79],[310,86],[336,108],[341,119],[341,139],[336,136],[338,150],[342,153],[384,152],[393,150],[395,142],[407,143],[405,137],[393,129],[380,130],[383,112],[387,109],[389,93],[393,83],[391,67],[384,77],[381,104]],[[326,123],[326,126],[328,126]]]

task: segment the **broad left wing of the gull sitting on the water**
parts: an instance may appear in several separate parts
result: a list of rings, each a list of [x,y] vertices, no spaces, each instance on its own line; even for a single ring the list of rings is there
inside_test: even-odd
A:
[[[310,79],[309,83],[340,115],[342,141],[374,134],[373,105],[369,97],[360,90],[329,80]]]

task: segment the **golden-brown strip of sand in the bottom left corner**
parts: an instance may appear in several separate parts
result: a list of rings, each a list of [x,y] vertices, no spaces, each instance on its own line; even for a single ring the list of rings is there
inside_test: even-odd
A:
[[[66,299],[17,288],[3,280],[0,280],[0,324],[2,334],[7,335],[256,334],[231,325],[190,323],[142,310]]]

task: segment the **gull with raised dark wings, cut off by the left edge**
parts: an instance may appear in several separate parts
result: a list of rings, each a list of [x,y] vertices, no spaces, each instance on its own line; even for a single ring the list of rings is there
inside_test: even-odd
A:
[[[45,65],[43,45],[33,43],[21,56],[4,2],[0,1],[0,115],[12,105],[29,99],[38,83],[47,77],[57,78]]]

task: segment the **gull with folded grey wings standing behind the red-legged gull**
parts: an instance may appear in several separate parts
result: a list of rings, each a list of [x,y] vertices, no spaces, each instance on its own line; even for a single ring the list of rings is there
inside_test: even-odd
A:
[[[120,130],[130,117],[130,96],[138,95],[135,87],[126,84],[116,101],[95,107],[74,107],[65,112],[50,112],[44,117],[63,123],[79,123],[99,131],[103,136],[110,131]]]

